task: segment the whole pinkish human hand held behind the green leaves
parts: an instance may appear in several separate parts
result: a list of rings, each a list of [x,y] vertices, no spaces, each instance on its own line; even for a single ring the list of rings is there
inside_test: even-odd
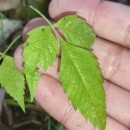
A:
[[[98,57],[105,79],[107,125],[105,130],[130,129],[130,7],[100,0],[53,0],[50,16],[54,21],[59,16],[76,12],[93,27],[97,38],[93,50]],[[59,14],[60,12],[60,14]],[[25,33],[39,25],[41,19],[27,24]],[[33,26],[33,27],[32,27]],[[22,46],[15,52],[15,63],[22,70]],[[69,130],[96,130],[75,111],[64,94],[58,78],[60,58],[40,77],[35,94],[39,104]]]

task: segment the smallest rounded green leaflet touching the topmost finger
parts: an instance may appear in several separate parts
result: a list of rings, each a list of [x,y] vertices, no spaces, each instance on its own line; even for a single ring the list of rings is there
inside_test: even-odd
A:
[[[93,30],[85,20],[76,15],[63,17],[55,26],[61,29],[67,42],[73,45],[90,48],[94,42],[95,34]]]

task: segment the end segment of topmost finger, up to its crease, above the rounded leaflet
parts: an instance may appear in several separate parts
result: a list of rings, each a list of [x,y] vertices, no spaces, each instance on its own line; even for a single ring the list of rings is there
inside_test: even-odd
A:
[[[55,21],[66,15],[78,14],[89,23],[99,3],[100,0],[52,0],[49,5],[49,14]]]

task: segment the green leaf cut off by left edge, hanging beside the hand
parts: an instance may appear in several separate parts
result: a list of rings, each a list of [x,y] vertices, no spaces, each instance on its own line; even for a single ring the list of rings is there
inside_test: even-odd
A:
[[[23,111],[25,111],[23,96],[24,76],[15,67],[12,57],[4,56],[3,62],[0,65],[0,84],[17,101]]]

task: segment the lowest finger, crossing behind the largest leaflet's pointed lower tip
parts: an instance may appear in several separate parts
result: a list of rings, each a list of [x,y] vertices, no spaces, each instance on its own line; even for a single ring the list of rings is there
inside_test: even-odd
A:
[[[61,84],[52,77],[41,76],[35,98],[52,117],[69,130],[96,130],[89,121],[85,121],[78,110],[75,111],[72,108]],[[128,130],[128,128],[111,118],[107,118],[106,130]]]

